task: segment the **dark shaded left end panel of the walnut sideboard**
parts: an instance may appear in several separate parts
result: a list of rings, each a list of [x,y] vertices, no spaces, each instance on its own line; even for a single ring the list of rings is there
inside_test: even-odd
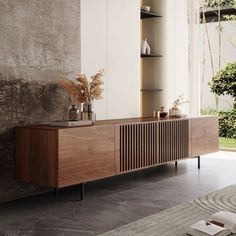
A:
[[[57,131],[16,128],[16,179],[57,186]]]

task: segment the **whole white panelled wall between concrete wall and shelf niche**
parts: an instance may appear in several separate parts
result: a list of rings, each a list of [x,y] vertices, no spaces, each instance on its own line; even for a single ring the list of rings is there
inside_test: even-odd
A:
[[[81,72],[106,71],[97,119],[140,115],[139,0],[81,0]]]

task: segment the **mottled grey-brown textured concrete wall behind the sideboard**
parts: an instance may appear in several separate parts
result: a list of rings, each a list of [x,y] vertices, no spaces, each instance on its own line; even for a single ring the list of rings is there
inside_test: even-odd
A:
[[[14,127],[65,117],[57,82],[79,71],[79,0],[0,0],[0,199],[13,181]]]

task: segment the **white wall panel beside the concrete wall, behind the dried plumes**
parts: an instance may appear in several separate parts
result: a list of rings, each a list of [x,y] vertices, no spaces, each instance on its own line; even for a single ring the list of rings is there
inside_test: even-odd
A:
[[[103,99],[95,101],[97,119],[107,119],[107,0],[81,0],[81,73],[105,69]]]

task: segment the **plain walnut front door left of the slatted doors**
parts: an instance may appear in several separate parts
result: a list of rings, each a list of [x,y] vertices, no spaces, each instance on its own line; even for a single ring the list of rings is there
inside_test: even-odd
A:
[[[115,173],[114,126],[59,131],[59,187],[112,176]]]

